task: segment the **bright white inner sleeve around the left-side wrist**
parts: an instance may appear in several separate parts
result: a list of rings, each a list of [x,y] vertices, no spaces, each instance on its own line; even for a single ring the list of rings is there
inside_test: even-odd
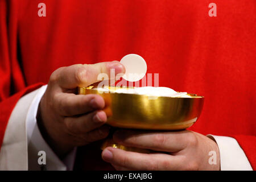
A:
[[[61,161],[43,139],[36,123],[38,106],[46,88],[47,85],[39,88],[27,113],[28,170],[72,170],[75,162],[76,148]],[[38,155],[39,151],[44,151],[44,154],[46,154],[45,165],[38,162],[40,156],[43,156],[42,154]]]

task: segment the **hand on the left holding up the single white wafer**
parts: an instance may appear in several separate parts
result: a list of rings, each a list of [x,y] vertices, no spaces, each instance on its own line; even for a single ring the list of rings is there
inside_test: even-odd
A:
[[[97,64],[75,64],[54,71],[47,90],[39,104],[38,126],[44,139],[59,157],[72,148],[104,139],[109,126],[104,109],[104,99],[97,94],[77,95],[77,86],[89,86],[98,82],[100,73],[110,77],[125,73],[119,61]]]

